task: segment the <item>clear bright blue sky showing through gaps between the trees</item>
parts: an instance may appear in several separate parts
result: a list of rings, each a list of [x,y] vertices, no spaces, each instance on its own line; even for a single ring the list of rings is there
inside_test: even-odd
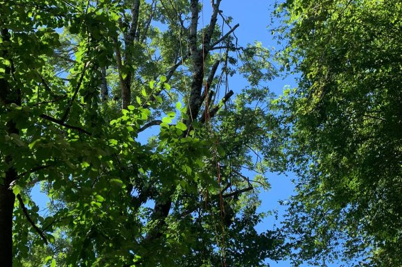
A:
[[[236,29],[235,33],[238,37],[238,44],[246,46],[247,43],[254,43],[259,41],[263,46],[279,49],[276,40],[273,40],[271,31],[268,28],[270,24],[270,12],[272,12],[273,1],[264,0],[222,0],[220,10],[223,10],[223,14],[233,17],[232,25],[240,24],[240,27]],[[204,0],[204,10],[202,14],[204,17],[200,17],[200,23],[205,25],[209,22],[209,16],[211,12],[210,0]],[[231,87],[234,85],[234,87]],[[270,90],[276,94],[281,94],[283,87],[290,85],[295,87],[295,77],[288,77],[286,79],[277,78],[268,83]],[[247,81],[241,76],[234,76],[229,80],[229,89],[232,89],[235,93],[241,92],[247,86]],[[251,173],[250,173],[251,175]],[[283,207],[278,203],[279,200],[286,200],[292,193],[294,185],[290,180],[293,177],[292,173],[288,175],[277,175],[275,173],[269,173],[267,175],[271,184],[270,191],[261,193],[262,205],[259,212],[266,212],[268,210],[277,209],[279,212],[278,221],[274,221],[274,217],[270,216],[263,223],[258,225],[259,231],[272,229],[274,224],[279,225],[282,215],[284,213]],[[33,189],[33,197],[40,207],[46,207],[46,196],[40,193],[39,187]],[[268,261],[272,267],[288,267],[290,261]],[[307,267],[308,265],[304,265]],[[338,265],[332,265],[333,267]]]

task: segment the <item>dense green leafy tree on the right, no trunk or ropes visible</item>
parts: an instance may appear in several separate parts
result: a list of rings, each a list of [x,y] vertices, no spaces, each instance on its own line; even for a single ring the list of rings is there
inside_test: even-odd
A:
[[[286,1],[279,56],[299,86],[276,101],[297,194],[295,265],[402,265],[399,1]],[[359,265],[360,266],[360,265]]]

